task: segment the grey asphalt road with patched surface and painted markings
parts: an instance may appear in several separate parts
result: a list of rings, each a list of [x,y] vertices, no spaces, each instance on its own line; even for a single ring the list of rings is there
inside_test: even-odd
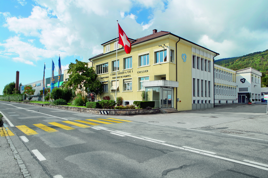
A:
[[[132,117],[11,102],[0,111],[33,178],[268,177],[264,105]],[[247,132],[250,118],[264,125]]]

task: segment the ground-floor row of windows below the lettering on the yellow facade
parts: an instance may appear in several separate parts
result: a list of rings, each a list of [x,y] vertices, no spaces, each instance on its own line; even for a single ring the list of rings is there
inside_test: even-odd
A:
[[[138,82],[139,82],[138,90],[144,90],[142,83],[145,81],[149,81],[149,76],[138,78]],[[111,88],[110,88],[111,92],[115,92],[115,90],[119,91],[118,86],[119,86],[119,80],[117,80],[117,81],[112,80],[111,81]],[[103,92],[108,92],[108,82],[107,81],[102,82],[102,88],[103,88]],[[123,79],[123,91],[132,91],[132,78]]]

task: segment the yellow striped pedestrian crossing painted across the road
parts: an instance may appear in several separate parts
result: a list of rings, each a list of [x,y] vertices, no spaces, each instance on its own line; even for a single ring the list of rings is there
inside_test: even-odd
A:
[[[101,125],[101,124],[113,124],[113,123],[123,123],[123,122],[132,122],[132,121],[128,121],[128,120],[123,120],[123,119],[115,119],[115,118],[107,118],[107,119],[85,119],[87,121],[83,121],[83,120],[74,120],[74,121],[61,121],[63,123],[66,124],[70,124],[70,125],[75,125],[78,127],[82,127],[82,128],[88,128],[88,127],[92,127],[92,126],[88,126],[88,125],[84,125],[84,124],[89,124],[89,125]],[[101,120],[101,121],[100,121]],[[92,122],[88,122],[88,121],[92,121]],[[105,122],[107,121],[107,122]],[[84,124],[80,124],[80,123],[84,123]],[[61,129],[65,129],[65,130],[73,130],[75,128],[73,127],[69,127],[67,125],[64,124],[60,124],[57,122],[49,122],[48,124],[50,125],[54,125],[56,127],[59,127]],[[33,124],[34,126],[38,127],[39,129],[42,129],[48,133],[52,133],[52,132],[57,132],[58,130],[46,126],[44,124]],[[21,130],[23,133],[25,133],[26,135],[34,135],[34,134],[38,134],[36,131],[34,131],[33,129],[27,127],[26,125],[19,125],[19,126],[15,126],[17,127],[19,130]],[[14,135],[7,127],[6,129],[2,129],[2,127],[0,127],[0,136],[12,136]]]

